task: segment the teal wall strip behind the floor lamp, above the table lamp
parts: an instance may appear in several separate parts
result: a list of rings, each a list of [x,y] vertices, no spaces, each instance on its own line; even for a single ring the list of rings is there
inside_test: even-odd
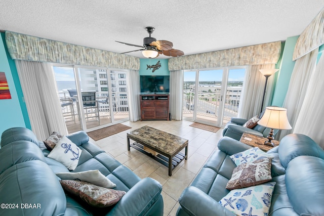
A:
[[[280,70],[277,72],[278,75],[272,98],[272,106],[282,107],[284,104],[290,78],[295,66],[295,61],[293,61],[293,53],[298,37],[299,36],[288,37],[285,42],[285,47],[279,66]]]

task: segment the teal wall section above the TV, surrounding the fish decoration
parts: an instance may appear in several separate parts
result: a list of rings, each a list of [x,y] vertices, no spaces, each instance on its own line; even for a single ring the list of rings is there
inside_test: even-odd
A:
[[[161,67],[152,72],[153,69],[147,68],[147,65],[155,65],[158,61]],[[140,75],[170,75],[168,59],[140,59]]]

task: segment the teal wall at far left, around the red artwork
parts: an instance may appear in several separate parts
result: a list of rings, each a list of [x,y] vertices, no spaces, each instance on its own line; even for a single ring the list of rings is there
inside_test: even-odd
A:
[[[3,35],[3,33],[2,33]],[[0,37],[0,72],[5,72],[11,99],[0,100],[0,135],[10,127],[26,127],[20,102],[17,94],[17,87],[14,82],[15,75],[9,65],[5,49],[5,40]],[[17,70],[16,70],[17,72]],[[18,89],[20,88],[20,84]],[[21,89],[21,88],[20,88]]]

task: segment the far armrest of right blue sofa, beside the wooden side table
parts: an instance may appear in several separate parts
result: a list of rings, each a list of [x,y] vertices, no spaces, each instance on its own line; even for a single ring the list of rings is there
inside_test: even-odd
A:
[[[249,146],[245,143],[241,143],[230,137],[223,137],[218,142],[218,149],[222,152],[225,152],[228,155],[233,155],[251,148],[252,146]]]

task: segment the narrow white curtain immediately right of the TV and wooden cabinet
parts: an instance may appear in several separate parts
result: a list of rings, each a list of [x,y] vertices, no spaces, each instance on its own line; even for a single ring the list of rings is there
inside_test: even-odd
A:
[[[170,112],[172,119],[182,120],[183,70],[170,71]]]

